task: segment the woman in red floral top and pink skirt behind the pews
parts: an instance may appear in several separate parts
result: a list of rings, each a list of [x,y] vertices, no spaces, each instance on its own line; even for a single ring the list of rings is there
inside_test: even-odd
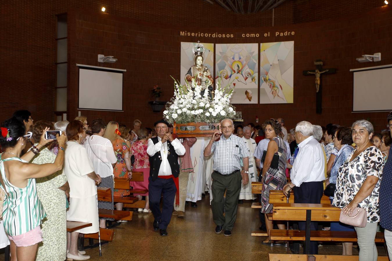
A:
[[[147,135],[148,132],[145,128],[138,130],[138,140],[132,144],[131,153],[135,156],[135,162],[133,163],[133,171],[143,172],[143,181],[132,181],[130,185],[133,189],[147,189],[148,190],[148,177],[150,176],[150,163],[149,155],[147,154]],[[146,197],[146,203],[144,209],[138,209],[141,213],[151,213],[150,206],[148,203],[148,191],[145,194],[134,193],[139,200],[142,200],[142,196]]]

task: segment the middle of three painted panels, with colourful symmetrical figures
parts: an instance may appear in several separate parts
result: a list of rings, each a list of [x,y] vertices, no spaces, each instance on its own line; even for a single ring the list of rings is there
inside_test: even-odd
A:
[[[215,59],[215,80],[220,80],[222,86],[234,87],[230,103],[257,103],[258,44],[216,44]]]

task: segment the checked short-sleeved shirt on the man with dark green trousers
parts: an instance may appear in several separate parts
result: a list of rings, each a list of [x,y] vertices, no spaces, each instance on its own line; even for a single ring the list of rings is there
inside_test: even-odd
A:
[[[227,139],[222,134],[220,140],[212,143],[211,152],[214,153],[213,169],[223,175],[241,169],[240,158],[249,157],[243,139],[233,134]]]

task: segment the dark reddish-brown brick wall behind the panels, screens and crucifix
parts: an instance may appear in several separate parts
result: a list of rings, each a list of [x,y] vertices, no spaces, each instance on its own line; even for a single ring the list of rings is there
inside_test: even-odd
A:
[[[6,3],[0,22],[4,62],[0,69],[1,86],[8,88],[7,101],[2,102],[0,121],[19,108],[33,112],[34,119],[53,120],[54,111],[54,30],[55,15],[68,13],[68,118],[77,115],[78,71],[76,63],[126,69],[124,74],[124,111],[82,111],[89,120],[102,117],[131,125],[134,119],[151,126],[162,118],[153,113],[148,101],[151,88],[163,88],[162,100],[172,95],[170,75],[180,79],[180,42],[258,43],[295,41],[294,104],[237,104],[245,123],[260,119],[283,117],[289,128],[301,120],[325,125],[343,125],[355,119],[370,118],[376,130],[385,126],[386,113],[351,113],[352,73],[360,68],[392,63],[391,7],[381,2],[360,0],[343,5],[342,1],[288,0],[272,11],[257,14],[234,14],[217,4],[200,1],[200,19],[195,23],[193,5],[187,0],[152,1],[140,5],[136,1],[115,1],[107,6],[109,14],[99,11],[102,2],[28,1]],[[46,2],[46,4],[45,4]],[[66,2],[66,3],[65,3]],[[107,4],[113,1],[108,1]],[[103,3],[105,4],[105,3]],[[367,11],[368,10],[368,11]],[[358,14],[360,13],[360,14]],[[340,17],[340,18],[339,18]],[[327,20],[325,20],[327,19]],[[321,21],[319,21],[321,20]],[[318,22],[313,22],[318,21]],[[305,23],[307,22],[307,23]],[[257,27],[252,27],[257,25]],[[234,28],[236,27],[236,28]],[[179,31],[205,28],[207,32],[235,33],[233,39],[180,36]],[[238,32],[295,31],[294,36],[241,38]],[[382,53],[379,63],[359,64],[362,54]],[[97,62],[97,54],[113,55],[114,64]],[[316,59],[325,68],[337,68],[336,74],[322,77],[323,113],[317,115],[314,77],[302,76],[302,70],[314,68]],[[21,77],[22,76],[22,77]],[[365,97],[364,97],[365,99]],[[259,123],[260,123],[259,122]]]

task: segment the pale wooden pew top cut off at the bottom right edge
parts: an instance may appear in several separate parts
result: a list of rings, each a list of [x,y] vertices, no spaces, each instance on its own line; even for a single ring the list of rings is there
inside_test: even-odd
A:
[[[316,261],[358,261],[358,256],[324,256],[324,255],[300,255],[300,254],[269,254],[270,261],[308,261],[308,257],[315,257]],[[388,261],[387,256],[377,257],[377,261]]]

